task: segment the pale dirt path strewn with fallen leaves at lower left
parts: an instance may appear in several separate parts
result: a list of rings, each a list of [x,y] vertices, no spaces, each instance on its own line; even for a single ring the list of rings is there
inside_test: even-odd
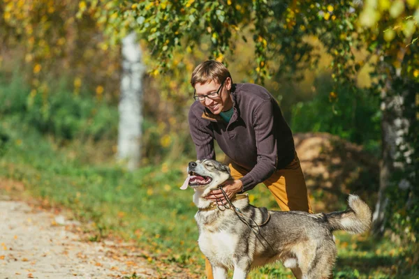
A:
[[[82,241],[78,225],[0,196],[0,279],[177,277],[155,271],[132,244]]]

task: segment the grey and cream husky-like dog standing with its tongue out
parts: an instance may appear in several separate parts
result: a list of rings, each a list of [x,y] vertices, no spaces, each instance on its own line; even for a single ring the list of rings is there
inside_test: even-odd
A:
[[[371,227],[369,206],[349,195],[348,209],[310,214],[303,211],[268,211],[249,204],[247,194],[238,194],[225,206],[205,199],[230,176],[230,169],[216,160],[197,160],[187,167],[181,187],[195,191],[193,202],[199,229],[198,245],[210,261],[215,279],[247,278],[249,271],[280,261],[296,278],[330,278],[337,248],[332,232],[360,234]]]

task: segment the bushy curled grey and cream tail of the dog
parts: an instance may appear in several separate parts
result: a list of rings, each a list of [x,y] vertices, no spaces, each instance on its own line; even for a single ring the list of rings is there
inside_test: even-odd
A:
[[[360,234],[371,227],[371,210],[357,195],[349,195],[349,208],[346,211],[326,214],[332,231],[344,230],[351,234]]]

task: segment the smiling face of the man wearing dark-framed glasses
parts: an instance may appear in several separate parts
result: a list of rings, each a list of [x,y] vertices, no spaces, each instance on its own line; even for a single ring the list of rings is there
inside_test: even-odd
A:
[[[195,95],[208,96],[211,93],[216,93],[216,91],[219,90],[218,96],[215,98],[206,97],[205,100],[200,100],[200,103],[207,107],[207,109],[210,110],[210,112],[213,114],[220,114],[220,112],[225,112],[233,107],[233,101],[231,100],[230,94],[228,93],[230,89],[231,80],[230,77],[227,77],[226,81],[223,82],[222,85],[215,82],[214,80],[205,84],[195,84]]]

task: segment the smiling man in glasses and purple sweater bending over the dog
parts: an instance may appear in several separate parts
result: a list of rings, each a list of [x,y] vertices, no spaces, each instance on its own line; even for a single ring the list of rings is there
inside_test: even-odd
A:
[[[196,102],[189,128],[198,159],[215,159],[214,140],[226,154],[234,181],[223,183],[230,199],[264,183],[283,211],[312,213],[293,135],[274,97],[256,84],[233,84],[217,61],[200,63],[191,76]],[[221,190],[207,196],[225,203]],[[212,278],[206,262],[207,278]]]

